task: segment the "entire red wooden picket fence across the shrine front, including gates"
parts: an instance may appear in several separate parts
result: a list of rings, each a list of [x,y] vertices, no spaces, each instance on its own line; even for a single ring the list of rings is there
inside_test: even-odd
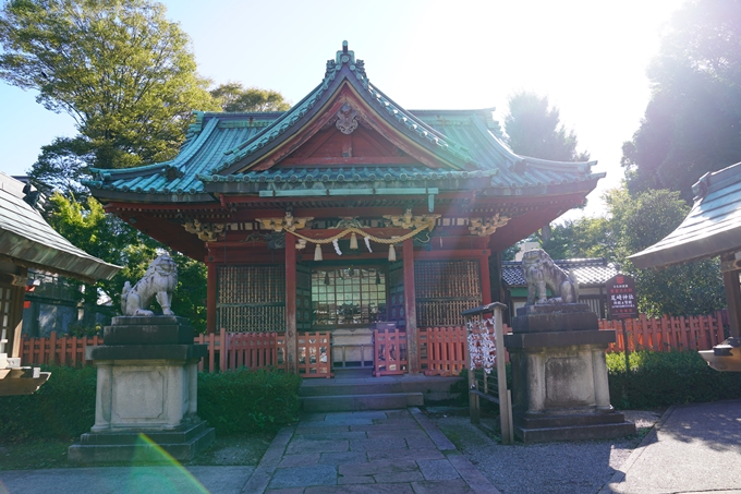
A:
[[[609,346],[608,352],[623,351],[625,342],[619,321],[600,321],[599,329],[615,329],[617,341]],[[632,351],[646,349],[653,351],[671,350],[709,350],[725,340],[722,311],[709,315],[688,317],[647,318],[641,315],[637,320],[625,321],[628,348]],[[505,326],[505,333],[510,329]],[[403,335],[404,333],[399,333]],[[393,334],[393,332],[391,332]],[[379,362],[379,357],[391,349],[385,344],[386,336],[376,336],[374,364],[377,375],[391,372],[390,365]],[[399,336],[401,338],[401,336]],[[418,329],[420,366],[425,374],[458,375],[466,366],[465,328],[432,327]],[[305,333],[299,335],[299,369],[304,377],[331,376],[331,352],[329,351],[329,333]],[[398,345],[405,344],[401,339]],[[208,357],[198,364],[205,372],[238,369],[262,369],[276,366],[286,369],[286,335],[283,333],[228,333],[219,332],[195,337],[196,344],[208,346]],[[381,345],[382,344],[382,345]],[[57,337],[52,333],[49,338],[23,338],[22,362],[29,364],[85,365],[85,347],[102,345],[102,338],[93,337]],[[382,348],[381,348],[382,347]],[[401,346],[399,347],[401,349]],[[406,356],[399,359],[396,369],[405,369]],[[380,351],[380,353],[379,353]],[[389,359],[392,356],[385,356]],[[403,362],[402,362],[403,360]],[[386,362],[390,362],[387,360]],[[380,366],[386,366],[380,370]],[[380,371],[380,374],[378,372]]]

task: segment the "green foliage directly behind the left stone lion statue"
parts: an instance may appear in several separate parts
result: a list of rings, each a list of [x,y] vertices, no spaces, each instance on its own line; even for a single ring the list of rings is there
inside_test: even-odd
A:
[[[99,292],[112,299],[118,311],[123,284],[136,282],[159,253],[167,251],[160,243],[107,215],[94,197],[81,201],[53,194],[49,225],[70,242],[106,262],[124,266],[112,279],[85,287],[85,302],[95,305]],[[179,252],[170,252],[178,264],[178,287],[172,298],[172,311],[187,317],[197,330],[206,327],[206,266]]]

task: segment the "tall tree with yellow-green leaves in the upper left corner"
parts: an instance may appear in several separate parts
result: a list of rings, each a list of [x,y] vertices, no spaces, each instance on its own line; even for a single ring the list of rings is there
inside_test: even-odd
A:
[[[37,101],[72,116],[80,132],[44,149],[38,179],[165,161],[191,110],[217,108],[189,37],[160,3],[10,0],[0,11],[0,79],[38,91]]]

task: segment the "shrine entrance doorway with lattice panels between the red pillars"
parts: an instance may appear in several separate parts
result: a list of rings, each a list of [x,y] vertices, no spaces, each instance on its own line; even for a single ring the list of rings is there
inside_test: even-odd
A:
[[[373,330],[389,321],[387,278],[388,263],[311,267],[312,330],[331,332],[335,370],[373,369]]]

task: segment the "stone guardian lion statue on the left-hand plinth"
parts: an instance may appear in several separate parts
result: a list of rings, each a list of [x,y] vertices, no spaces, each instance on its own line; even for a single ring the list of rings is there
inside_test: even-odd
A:
[[[154,315],[154,312],[146,308],[151,304],[153,298],[157,298],[157,302],[162,308],[162,314],[174,315],[170,305],[172,292],[177,286],[178,265],[169,255],[160,255],[149,263],[144,277],[134,285],[134,288],[129,281],[123,285],[121,312],[123,315]]]

